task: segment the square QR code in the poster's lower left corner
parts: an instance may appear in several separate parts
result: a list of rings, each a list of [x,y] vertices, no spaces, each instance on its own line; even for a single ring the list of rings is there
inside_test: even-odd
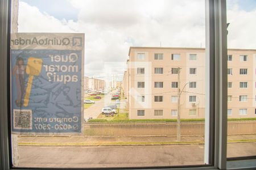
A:
[[[14,129],[32,129],[32,110],[14,109]]]

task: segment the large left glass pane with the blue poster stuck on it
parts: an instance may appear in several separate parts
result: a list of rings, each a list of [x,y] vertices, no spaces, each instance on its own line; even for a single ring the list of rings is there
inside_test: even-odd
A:
[[[208,162],[205,0],[13,0],[13,5],[15,167]],[[242,62],[249,62],[250,54],[243,55]],[[249,109],[241,110],[246,113]]]

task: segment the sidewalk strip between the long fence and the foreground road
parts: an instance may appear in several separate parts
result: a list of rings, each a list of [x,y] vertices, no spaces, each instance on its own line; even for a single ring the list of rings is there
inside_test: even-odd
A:
[[[228,135],[228,142],[255,142],[256,134]],[[204,136],[181,137],[19,137],[19,146],[129,146],[129,145],[200,145]]]

